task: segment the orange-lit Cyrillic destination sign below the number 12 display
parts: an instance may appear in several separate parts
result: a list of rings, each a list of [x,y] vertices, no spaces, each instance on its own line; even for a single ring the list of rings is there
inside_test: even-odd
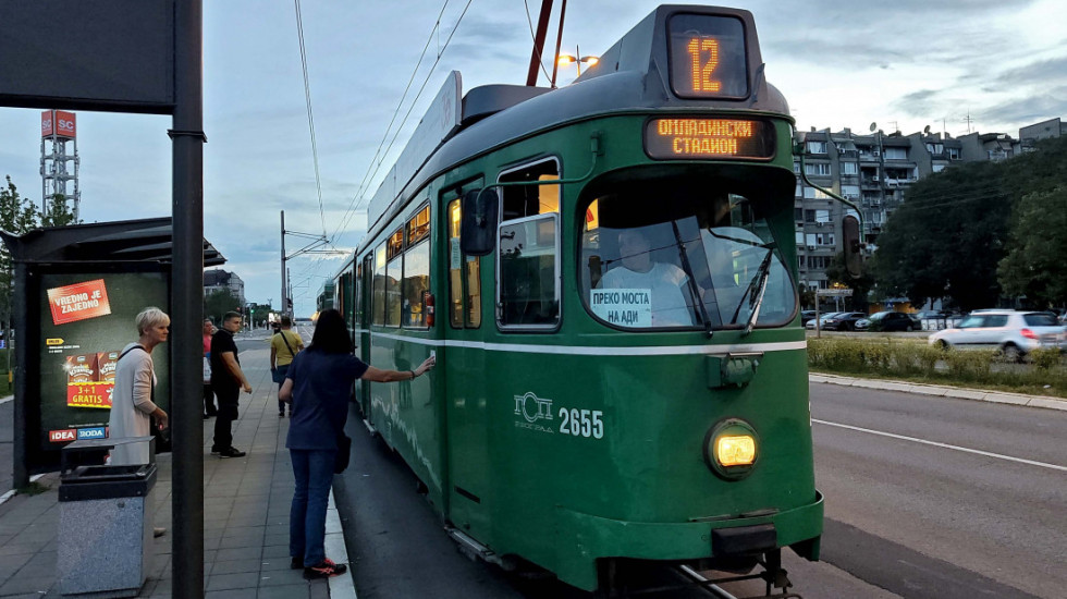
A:
[[[758,159],[774,157],[774,127],[752,119],[650,119],[645,151],[657,159]]]

